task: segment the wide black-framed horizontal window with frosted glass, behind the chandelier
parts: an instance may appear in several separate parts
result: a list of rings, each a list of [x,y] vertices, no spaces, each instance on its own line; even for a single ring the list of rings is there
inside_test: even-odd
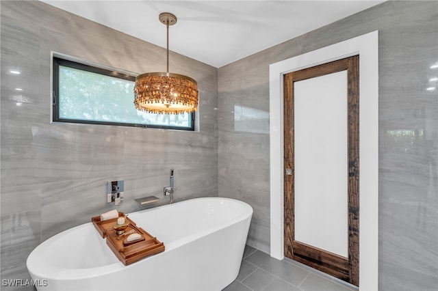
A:
[[[134,107],[136,77],[53,57],[53,122],[194,130],[194,114]]]

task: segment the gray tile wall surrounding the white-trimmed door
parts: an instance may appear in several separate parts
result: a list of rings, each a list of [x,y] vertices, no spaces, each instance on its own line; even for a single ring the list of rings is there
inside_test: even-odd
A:
[[[279,27],[279,29],[287,29]],[[379,31],[379,289],[438,287],[438,2],[388,1],[218,69],[219,196],[270,250],[269,64]],[[273,32],[274,33],[274,32]],[[252,37],[257,37],[254,31]]]

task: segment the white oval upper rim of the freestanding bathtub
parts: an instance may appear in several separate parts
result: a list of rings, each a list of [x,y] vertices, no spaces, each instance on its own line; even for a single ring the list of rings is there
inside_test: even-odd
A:
[[[171,243],[165,243],[166,250],[164,252],[172,251],[173,249],[177,249],[181,245],[185,245],[187,243],[190,243],[191,241],[195,240],[196,238],[201,238],[203,236],[207,236],[211,233],[218,232],[219,230],[222,230],[226,227],[229,227],[230,225],[234,225],[236,223],[241,223],[243,221],[246,221],[247,219],[250,219],[253,215],[253,208],[247,204],[246,202],[242,202],[237,199],[227,198],[227,197],[197,197],[193,199],[187,199],[183,200],[181,202],[177,202],[175,204],[166,204],[163,206],[158,206],[155,208],[149,208],[144,210],[138,210],[136,212],[131,212],[129,214],[141,214],[144,212],[150,212],[154,210],[159,210],[161,208],[167,208],[171,206],[175,206],[177,204],[185,204],[189,202],[194,202],[197,200],[208,200],[208,199],[214,199],[214,200],[227,200],[231,201],[233,203],[237,203],[242,205],[242,214],[236,217],[235,219],[231,219],[229,221],[226,221],[226,223],[222,223],[216,227],[211,227],[208,230],[196,232],[195,234],[185,236],[183,238],[180,238],[178,240],[175,240]],[[140,225],[139,225],[140,226]],[[134,262],[133,264],[129,264],[125,266],[122,262],[120,262],[117,259],[117,262],[114,262],[113,264],[107,264],[103,266],[96,266],[92,268],[62,268],[61,266],[56,266],[54,264],[51,264],[48,262],[48,260],[45,258],[44,254],[48,251],[49,247],[59,238],[62,236],[66,236],[70,234],[70,232],[75,232],[77,230],[80,230],[84,227],[93,227],[92,222],[83,223],[81,225],[77,225],[75,227],[71,227],[68,230],[64,230],[58,234],[55,234],[54,236],[51,236],[51,238],[48,238],[47,240],[44,240],[40,245],[38,245],[35,249],[31,251],[29,256],[26,260],[26,267],[27,271],[31,273],[32,275],[42,278],[42,279],[48,279],[48,280],[75,280],[75,279],[90,279],[92,277],[99,277],[103,274],[109,274],[109,273],[115,273],[120,270],[126,270],[129,268],[135,267],[140,262],[145,262],[147,260],[153,260],[153,258],[156,257],[156,255],[152,255],[151,257],[144,258],[138,262]],[[141,227],[141,226],[140,226]],[[103,238],[102,238],[103,239]],[[159,238],[158,238],[159,239]],[[36,253],[36,249],[38,249],[38,252]],[[159,254],[157,254],[159,255]],[[114,257],[116,258],[116,257]],[[30,266],[30,268],[29,268]],[[31,271],[31,270],[32,271]],[[42,272],[40,270],[43,270]],[[47,275],[49,274],[49,275]]]

